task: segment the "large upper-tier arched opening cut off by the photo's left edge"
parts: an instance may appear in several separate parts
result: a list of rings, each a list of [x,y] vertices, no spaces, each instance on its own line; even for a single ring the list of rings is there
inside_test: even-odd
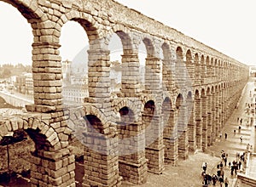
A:
[[[25,105],[34,103],[33,34],[32,26],[27,21],[28,14],[31,14],[30,17],[35,15],[22,4],[17,6],[12,1],[5,2],[0,2],[0,41],[3,45],[0,58],[0,94],[4,98],[11,98],[5,98],[8,104],[25,108]]]

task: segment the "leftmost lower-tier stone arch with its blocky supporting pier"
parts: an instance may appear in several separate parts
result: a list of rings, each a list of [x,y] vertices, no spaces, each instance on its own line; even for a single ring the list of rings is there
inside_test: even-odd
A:
[[[71,131],[65,127],[62,133],[57,133],[60,129],[54,124],[49,125],[45,120],[49,120],[44,116],[23,116],[13,117],[10,120],[1,119],[0,122],[0,139],[8,135],[10,132],[15,132],[19,129],[26,131],[35,143],[35,151],[32,152],[31,157],[31,183],[33,185],[74,185],[75,180],[74,168],[75,159],[71,151],[67,149],[67,139]],[[66,145],[65,145],[66,144]],[[67,162],[63,166],[63,161]],[[67,171],[67,167],[69,168]],[[38,178],[44,173],[44,178]],[[66,181],[59,181],[68,175]],[[48,180],[51,178],[51,180]]]

